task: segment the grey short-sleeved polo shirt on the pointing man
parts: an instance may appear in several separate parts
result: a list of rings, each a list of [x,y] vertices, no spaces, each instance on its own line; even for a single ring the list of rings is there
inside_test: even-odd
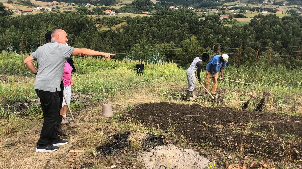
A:
[[[66,60],[71,57],[75,48],[60,44],[56,40],[40,46],[31,56],[38,62],[38,73],[35,89],[55,92],[61,91],[60,84],[63,77]]]

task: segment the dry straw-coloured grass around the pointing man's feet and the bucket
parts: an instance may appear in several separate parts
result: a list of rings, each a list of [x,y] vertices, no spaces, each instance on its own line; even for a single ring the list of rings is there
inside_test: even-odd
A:
[[[26,81],[24,80],[24,83]],[[76,150],[85,150],[76,158],[77,165],[83,166],[92,164],[97,168],[106,168],[114,165],[113,160],[107,157],[93,155],[93,151],[100,145],[107,144],[111,136],[115,133],[134,132],[130,135],[130,148],[134,151],[140,150],[141,142],[144,139],[143,132],[153,134],[162,134],[158,129],[146,128],[143,125],[135,124],[133,121],[127,122],[127,125],[120,122],[120,117],[127,107],[141,103],[160,102],[162,98],[158,91],[152,91],[155,87],[143,88],[139,91],[127,91],[118,93],[117,96],[108,97],[106,100],[95,105],[81,109],[77,115],[74,112],[76,123],[63,126],[63,130],[68,130],[70,134],[63,139],[68,140],[68,144],[60,146],[59,150],[52,153],[37,153],[36,142],[39,139],[43,119],[27,117],[11,118],[9,126],[12,132],[4,133],[7,128],[7,119],[0,119],[0,167],[1,168],[74,168],[74,163],[68,162],[73,158],[73,153],[69,153],[74,148]],[[152,91],[152,92],[151,92]],[[113,106],[114,117],[112,119],[101,117],[102,104],[111,103]],[[5,141],[10,138],[11,141]],[[132,158],[130,154],[114,157],[118,161],[123,161],[128,168],[141,168],[141,164]]]

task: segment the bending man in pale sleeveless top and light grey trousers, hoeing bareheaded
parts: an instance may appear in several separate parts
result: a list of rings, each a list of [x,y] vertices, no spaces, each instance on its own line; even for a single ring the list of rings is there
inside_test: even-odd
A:
[[[192,96],[193,99],[196,99],[196,91],[195,91],[195,72],[197,71],[198,82],[201,84],[200,71],[203,67],[202,61],[206,61],[209,59],[209,54],[204,53],[201,57],[195,57],[190,67],[187,70],[187,79],[189,84],[189,90],[187,90],[187,100],[190,100]]]

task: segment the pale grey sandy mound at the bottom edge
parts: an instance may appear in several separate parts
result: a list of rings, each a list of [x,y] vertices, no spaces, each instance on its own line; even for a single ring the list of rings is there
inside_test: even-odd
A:
[[[158,146],[142,152],[137,159],[145,164],[147,169],[202,169],[210,161],[192,149],[180,149],[174,145]]]

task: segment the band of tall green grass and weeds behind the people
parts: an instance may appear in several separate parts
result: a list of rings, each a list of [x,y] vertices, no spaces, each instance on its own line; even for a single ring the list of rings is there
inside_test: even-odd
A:
[[[27,55],[0,54],[0,69],[2,74],[31,76],[32,72],[23,63]],[[178,83],[179,86],[187,84],[185,69],[175,63],[150,64],[145,63],[143,74],[136,72],[137,61],[105,60],[100,57],[76,57],[74,56],[77,72],[72,73],[75,85],[72,91],[78,94],[89,94],[95,100],[104,99],[108,95],[129,89],[152,87],[163,83],[167,87],[169,83]],[[276,94],[301,93],[302,84],[301,69],[286,69],[284,66],[265,67],[260,66],[226,66],[224,77],[237,81],[252,83],[247,90],[266,90]],[[201,72],[204,79],[205,72]],[[221,81],[219,88],[244,88],[243,84],[230,81]],[[0,82],[0,100],[6,100],[8,104],[37,98],[33,81],[24,84],[14,79],[8,82]]]

